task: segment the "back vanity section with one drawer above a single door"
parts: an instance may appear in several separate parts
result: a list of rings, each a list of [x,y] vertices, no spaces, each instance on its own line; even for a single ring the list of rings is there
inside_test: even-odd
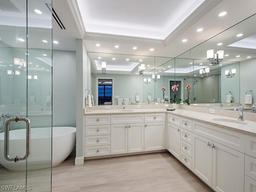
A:
[[[144,151],[165,147],[165,113],[144,114]]]

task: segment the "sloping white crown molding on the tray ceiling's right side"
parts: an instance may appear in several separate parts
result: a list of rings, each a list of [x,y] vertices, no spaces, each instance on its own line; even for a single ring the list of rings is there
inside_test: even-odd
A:
[[[190,16],[188,16],[170,35],[168,35],[164,42],[165,46],[168,46],[173,40],[175,40],[180,34],[186,31],[190,26],[192,26],[196,21],[198,21],[202,16],[209,12],[212,8],[218,5],[222,0],[204,1]]]

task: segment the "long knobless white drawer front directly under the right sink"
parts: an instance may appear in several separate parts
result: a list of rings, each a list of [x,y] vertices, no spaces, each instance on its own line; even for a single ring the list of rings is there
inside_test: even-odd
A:
[[[200,136],[244,153],[244,134],[193,120],[192,130]]]

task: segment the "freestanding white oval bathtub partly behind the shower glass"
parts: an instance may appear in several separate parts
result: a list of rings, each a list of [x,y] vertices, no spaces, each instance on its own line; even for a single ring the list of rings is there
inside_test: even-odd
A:
[[[28,170],[50,168],[51,163],[52,166],[62,163],[70,155],[76,143],[75,127],[31,128],[30,133]],[[9,155],[24,156],[25,153],[26,129],[10,131]],[[11,171],[21,171],[26,168],[26,160],[12,162],[4,158],[4,132],[0,133],[0,164]]]

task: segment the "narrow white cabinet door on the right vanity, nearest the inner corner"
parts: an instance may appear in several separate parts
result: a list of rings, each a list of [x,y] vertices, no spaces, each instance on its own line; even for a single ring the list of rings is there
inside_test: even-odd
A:
[[[180,160],[180,128],[168,123],[167,127],[168,146],[167,150]]]

